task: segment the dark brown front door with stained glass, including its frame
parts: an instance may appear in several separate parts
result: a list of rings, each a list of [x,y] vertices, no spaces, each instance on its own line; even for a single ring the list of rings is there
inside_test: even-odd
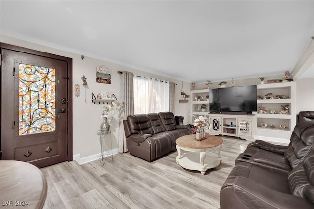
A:
[[[1,159],[72,160],[72,59],[5,44],[1,55]]]

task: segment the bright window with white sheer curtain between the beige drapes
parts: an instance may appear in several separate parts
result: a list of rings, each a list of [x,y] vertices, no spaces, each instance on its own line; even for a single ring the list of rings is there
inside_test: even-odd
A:
[[[169,111],[169,82],[134,75],[134,114]]]

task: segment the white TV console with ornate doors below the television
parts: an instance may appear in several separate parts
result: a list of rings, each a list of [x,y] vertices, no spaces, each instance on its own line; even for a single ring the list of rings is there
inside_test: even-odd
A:
[[[255,115],[209,114],[209,134],[254,141]]]

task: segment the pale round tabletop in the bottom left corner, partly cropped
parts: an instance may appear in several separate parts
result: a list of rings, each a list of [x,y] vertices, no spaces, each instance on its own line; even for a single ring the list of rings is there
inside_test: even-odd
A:
[[[0,160],[1,209],[41,209],[47,195],[47,182],[34,165]]]

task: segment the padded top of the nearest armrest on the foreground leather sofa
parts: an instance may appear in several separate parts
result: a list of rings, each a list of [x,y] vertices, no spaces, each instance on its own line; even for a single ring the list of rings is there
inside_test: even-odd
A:
[[[236,177],[229,185],[225,184],[222,190],[228,186],[233,187],[237,198],[248,208],[313,209],[314,207],[314,204],[305,198],[275,191],[242,176]]]

